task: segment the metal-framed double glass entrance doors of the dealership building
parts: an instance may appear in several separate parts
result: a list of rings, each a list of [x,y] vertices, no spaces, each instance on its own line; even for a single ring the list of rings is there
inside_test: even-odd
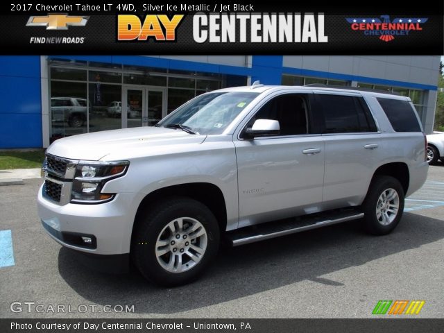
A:
[[[123,87],[122,128],[154,126],[167,115],[165,89]]]

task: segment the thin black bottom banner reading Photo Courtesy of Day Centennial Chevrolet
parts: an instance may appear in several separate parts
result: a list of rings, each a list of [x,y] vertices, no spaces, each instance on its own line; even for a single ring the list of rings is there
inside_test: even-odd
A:
[[[0,319],[0,332],[441,333],[443,324],[443,319]]]

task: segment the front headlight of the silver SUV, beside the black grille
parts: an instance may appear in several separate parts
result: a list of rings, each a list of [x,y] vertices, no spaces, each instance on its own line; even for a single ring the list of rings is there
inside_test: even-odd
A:
[[[109,180],[123,176],[128,170],[128,161],[88,162],[80,161],[72,183],[71,203],[105,203],[114,198],[114,193],[102,193]]]

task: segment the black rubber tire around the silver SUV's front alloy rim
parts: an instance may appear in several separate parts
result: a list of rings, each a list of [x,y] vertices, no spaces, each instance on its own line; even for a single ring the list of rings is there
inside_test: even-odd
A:
[[[192,266],[191,268],[185,268],[185,264],[182,264],[182,267],[187,270],[181,273],[174,273],[167,271],[167,268],[164,268],[160,264],[160,261],[162,261],[162,263],[164,260],[167,262],[168,259],[171,259],[170,256],[176,258],[176,256],[180,255],[182,258],[181,262],[187,263],[187,259],[191,258],[187,255],[190,248],[188,248],[183,254],[178,252],[173,253],[173,248],[170,248],[169,244],[167,247],[171,250],[158,260],[156,250],[160,247],[156,247],[156,242],[158,237],[162,237],[165,232],[170,232],[167,228],[169,223],[182,217],[195,219],[201,223],[206,232],[206,249],[203,251],[203,255],[200,256],[200,261],[197,263],[194,261],[188,262],[190,263],[190,266]],[[155,205],[147,207],[142,214],[139,214],[138,219],[137,227],[133,233],[131,249],[133,261],[142,275],[155,284],[165,287],[173,287],[192,282],[202,275],[205,268],[211,264],[217,254],[220,239],[219,225],[214,214],[212,214],[208,207],[197,200],[184,197],[168,198],[167,200],[162,200]],[[184,220],[184,230],[186,223],[186,220]],[[183,231],[182,234],[185,234],[186,232],[187,230]],[[175,234],[171,232],[171,237],[168,239],[168,243],[170,243],[171,240],[176,240]],[[191,241],[191,236],[189,236],[189,240]],[[185,240],[182,240],[182,237],[180,237],[178,242],[179,241],[185,242]],[[186,243],[182,244],[182,246],[185,247],[185,244]],[[180,248],[180,250],[183,250],[183,248]],[[197,255],[197,253],[195,254]],[[173,259],[173,262],[176,267],[177,261],[175,260],[176,259]]]

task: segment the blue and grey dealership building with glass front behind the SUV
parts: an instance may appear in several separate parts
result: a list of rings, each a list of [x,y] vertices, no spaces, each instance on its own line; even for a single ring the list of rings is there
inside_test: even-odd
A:
[[[439,62],[439,56],[1,56],[0,148],[153,126],[198,94],[255,80],[409,96],[431,133]]]

